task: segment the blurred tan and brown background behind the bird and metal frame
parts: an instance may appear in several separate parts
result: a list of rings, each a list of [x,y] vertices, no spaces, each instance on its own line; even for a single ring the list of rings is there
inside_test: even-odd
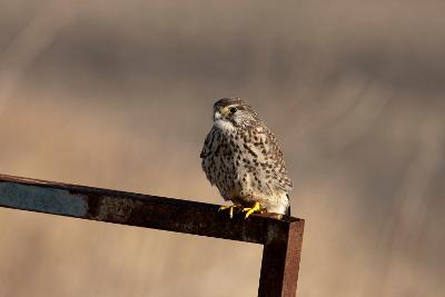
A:
[[[221,204],[215,100],[277,135],[299,296],[444,296],[443,1],[0,3],[0,172]],[[0,296],[256,296],[261,247],[0,209]]]

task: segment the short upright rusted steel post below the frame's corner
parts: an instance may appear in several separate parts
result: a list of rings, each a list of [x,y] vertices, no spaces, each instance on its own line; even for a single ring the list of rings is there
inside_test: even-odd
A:
[[[305,221],[288,225],[285,236],[273,237],[264,245],[259,297],[295,297]]]

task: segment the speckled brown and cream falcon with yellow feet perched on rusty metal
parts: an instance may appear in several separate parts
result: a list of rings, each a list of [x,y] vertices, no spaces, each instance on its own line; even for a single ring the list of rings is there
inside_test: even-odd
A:
[[[200,154],[202,169],[222,198],[234,208],[290,215],[287,175],[281,149],[257,112],[240,98],[222,98],[214,105],[214,126]]]

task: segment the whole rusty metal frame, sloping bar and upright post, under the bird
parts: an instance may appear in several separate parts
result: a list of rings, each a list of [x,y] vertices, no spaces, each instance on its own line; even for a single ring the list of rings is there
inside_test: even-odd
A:
[[[258,296],[296,296],[304,220],[216,205],[0,175],[0,207],[264,245]]]

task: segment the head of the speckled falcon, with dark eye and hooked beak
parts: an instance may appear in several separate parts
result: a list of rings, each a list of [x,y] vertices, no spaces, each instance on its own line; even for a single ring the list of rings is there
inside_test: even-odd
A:
[[[214,105],[214,125],[222,130],[250,127],[258,121],[257,112],[240,98],[222,98]]]

